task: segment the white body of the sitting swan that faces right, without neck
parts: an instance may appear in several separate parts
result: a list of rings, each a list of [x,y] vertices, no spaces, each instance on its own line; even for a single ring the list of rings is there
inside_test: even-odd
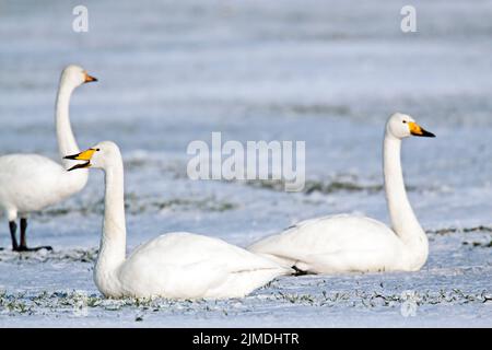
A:
[[[341,214],[303,221],[248,250],[309,273],[339,273],[418,270],[425,246],[423,240],[419,256],[412,256],[384,223]]]

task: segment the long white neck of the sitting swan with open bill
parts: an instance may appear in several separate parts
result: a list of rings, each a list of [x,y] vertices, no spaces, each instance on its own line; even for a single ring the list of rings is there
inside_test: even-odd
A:
[[[95,281],[106,295],[118,295],[116,272],[125,261],[127,232],[125,224],[124,166],[117,154],[105,168],[103,236],[94,270]]]

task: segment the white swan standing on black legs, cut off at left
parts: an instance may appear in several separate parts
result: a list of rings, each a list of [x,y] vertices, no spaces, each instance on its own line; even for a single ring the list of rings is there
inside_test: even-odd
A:
[[[79,85],[97,81],[78,66],[68,66],[61,73],[56,102],[56,130],[60,156],[79,152],[69,119],[70,96]],[[28,248],[27,214],[60,202],[80,191],[87,182],[87,172],[67,173],[68,161],[60,165],[38,154],[0,156],[0,208],[9,220],[12,249],[16,252],[51,249],[49,246]],[[17,244],[15,223],[21,217],[21,242]]]

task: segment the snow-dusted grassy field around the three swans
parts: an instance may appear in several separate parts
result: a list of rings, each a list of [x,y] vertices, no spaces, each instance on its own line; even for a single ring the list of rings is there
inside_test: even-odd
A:
[[[242,300],[108,301],[92,281],[103,180],[33,215],[32,245],[0,252],[0,326],[492,326],[492,1],[83,1],[0,3],[0,152],[57,156],[63,66],[99,79],[71,119],[81,147],[110,139],[126,165],[129,248],[190,231],[245,246],[303,219],[388,221],[383,126],[411,114],[436,139],[403,145],[409,197],[430,238],[419,272],[281,278]],[[192,182],[187,144],[305,140],[304,192]],[[5,218],[0,246],[10,247]]]

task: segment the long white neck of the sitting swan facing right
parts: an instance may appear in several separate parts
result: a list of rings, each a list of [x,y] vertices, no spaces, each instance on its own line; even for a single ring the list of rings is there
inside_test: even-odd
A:
[[[412,265],[423,265],[429,241],[407,197],[401,171],[401,140],[386,131],[384,140],[384,176],[389,217],[395,233],[409,249]],[[419,266],[419,268],[420,268]]]

